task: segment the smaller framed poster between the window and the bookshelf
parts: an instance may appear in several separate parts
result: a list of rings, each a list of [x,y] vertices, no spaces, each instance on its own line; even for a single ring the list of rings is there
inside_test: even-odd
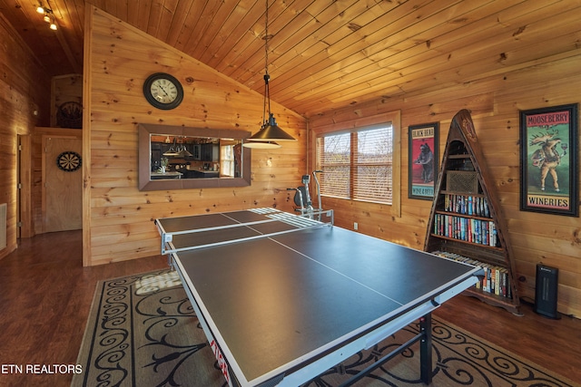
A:
[[[409,125],[409,198],[432,200],[438,179],[439,122]]]

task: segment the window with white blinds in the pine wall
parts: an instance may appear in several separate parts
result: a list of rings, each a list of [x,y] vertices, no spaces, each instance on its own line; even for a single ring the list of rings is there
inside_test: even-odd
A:
[[[393,126],[391,123],[317,138],[320,193],[392,203]]]

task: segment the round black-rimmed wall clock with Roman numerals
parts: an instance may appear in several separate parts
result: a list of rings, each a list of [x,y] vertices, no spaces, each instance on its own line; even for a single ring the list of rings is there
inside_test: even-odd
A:
[[[143,95],[158,109],[174,109],[183,100],[182,83],[168,73],[153,73],[143,83]]]

